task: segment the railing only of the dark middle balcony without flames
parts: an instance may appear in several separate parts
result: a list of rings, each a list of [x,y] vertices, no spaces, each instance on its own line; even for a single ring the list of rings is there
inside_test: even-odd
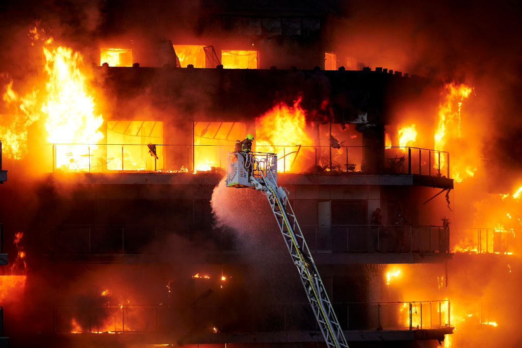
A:
[[[448,253],[449,230],[442,226],[411,225],[301,225],[313,253]],[[57,254],[141,254],[153,238],[154,226],[60,225],[55,229]],[[211,225],[176,228],[188,241],[205,240],[220,253],[239,251],[233,231]],[[148,250],[147,253],[154,253]]]

